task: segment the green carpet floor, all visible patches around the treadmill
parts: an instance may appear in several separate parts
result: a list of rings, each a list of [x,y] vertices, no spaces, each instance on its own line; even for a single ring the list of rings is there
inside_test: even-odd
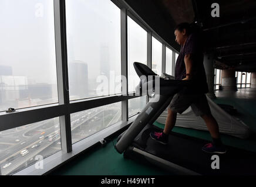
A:
[[[256,100],[253,99],[233,99],[233,98],[217,98],[215,103],[227,104],[234,106],[239,112],[240,119],[256,132],[255,116],[256,116]],[[163,128],[164,124],[155,122],[154,125]],[[186,129],[182,127],[174,127],[174,132],[187,134],[211,141],[208,131]],[[114,143],[116,143],[114,138]],[[242,148],[256,152],[256,138],[251,137],[247,140],[240,138],[221,135],[223,143],[227,146]],[[152,165],[145,165],[133,160],[124,159],[123,155],[114,150],[113,143],[110,141],[105,147],[96,146],[86,153],[80,154],[74,160],[56,169],[51,175],[171,175],[169,172],[163,171],[161,168]]]

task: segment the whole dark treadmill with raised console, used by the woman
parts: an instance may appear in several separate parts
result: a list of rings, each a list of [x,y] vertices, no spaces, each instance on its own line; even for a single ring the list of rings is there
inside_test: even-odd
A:
[[[154,82],[148,77],[157,74],[147,65],[133,65],[140,77],[136,92],[140,90],[141,93],[143,86]],[[151,131],[161,131],[153,125],[157,117],[167,108],[173,96],[190,84],[190,81],[160,78],[160,92],[150,99],[130,127],[117,138],[114,146],[117,152],[124,153],[124,158],[150,162],[174,175],[255,175],[254,152],[226,146],[225,154],[209,154],[201,150],[208,143],[206,140],[171,132],[168,144],[164,145],[150,137]]]

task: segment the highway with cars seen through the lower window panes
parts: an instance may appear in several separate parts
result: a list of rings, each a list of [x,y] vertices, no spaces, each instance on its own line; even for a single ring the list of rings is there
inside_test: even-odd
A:
[[[72,114],[72,144],[120,121],[119,110],[118,107],[106,107]],[[61,150],[60,142],[58,117],[0,132],[1,175],[13,174],[35,163],[36,155],[46,158],[56,153]]]

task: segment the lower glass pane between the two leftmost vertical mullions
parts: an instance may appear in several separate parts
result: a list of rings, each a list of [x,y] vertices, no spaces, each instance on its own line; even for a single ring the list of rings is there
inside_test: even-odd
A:
[[[71,117],[72,144],[122,120],[122,103],[73,113]]]

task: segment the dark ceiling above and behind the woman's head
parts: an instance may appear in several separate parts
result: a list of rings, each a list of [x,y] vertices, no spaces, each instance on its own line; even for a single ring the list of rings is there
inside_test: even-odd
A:
[[[256,71],[255,0],[126,0],[156,32],[179,50],[173,28],[197,21],[204,33],[205,53],[214,55],[219,69]],[[211,16],[211,4],[220,17]]]

